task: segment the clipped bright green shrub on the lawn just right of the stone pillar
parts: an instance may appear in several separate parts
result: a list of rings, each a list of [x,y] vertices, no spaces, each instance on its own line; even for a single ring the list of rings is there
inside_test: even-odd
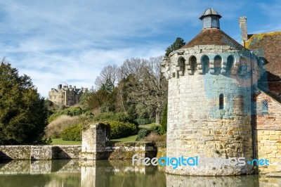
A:
[[[108,121],[110,124],[110,138],[123,138],[126,136],[137,134],[138,128],[135,124],[129,122]]]

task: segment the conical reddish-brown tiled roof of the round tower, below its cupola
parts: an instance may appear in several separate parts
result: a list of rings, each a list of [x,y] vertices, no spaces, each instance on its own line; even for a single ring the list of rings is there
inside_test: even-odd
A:
[[[200,45],[220,45],[231,46],[233,49],[244,49],[244,46],[232,39],[222,30],[216,28],[204,29],[197,36],[185,44],[183,48],[189,48]]]

